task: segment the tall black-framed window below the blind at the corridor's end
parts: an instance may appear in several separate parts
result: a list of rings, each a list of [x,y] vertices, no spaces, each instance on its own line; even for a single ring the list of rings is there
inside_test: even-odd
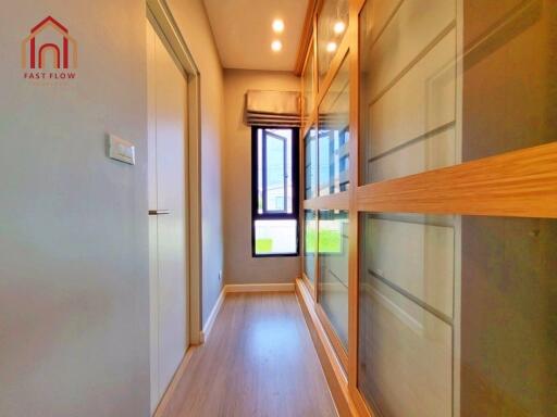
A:
[[[252,255],[298,255],[298,129],[251,128]]]

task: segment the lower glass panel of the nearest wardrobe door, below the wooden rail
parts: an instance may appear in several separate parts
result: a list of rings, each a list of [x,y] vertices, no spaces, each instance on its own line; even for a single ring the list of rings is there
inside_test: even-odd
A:
[[[379,415],[557,415],[557,220],[360,220],[358,388]]]

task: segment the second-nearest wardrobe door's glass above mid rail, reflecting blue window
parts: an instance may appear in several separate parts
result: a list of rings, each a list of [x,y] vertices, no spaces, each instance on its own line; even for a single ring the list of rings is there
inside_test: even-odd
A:
[[[319,108],[319,194],[349,186],[349,61],[345,58]]]

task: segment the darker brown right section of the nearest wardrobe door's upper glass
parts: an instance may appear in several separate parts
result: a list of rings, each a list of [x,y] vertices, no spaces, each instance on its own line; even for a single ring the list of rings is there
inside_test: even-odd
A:
[[[557,2],[462,4],[462,161],[557,140]]]

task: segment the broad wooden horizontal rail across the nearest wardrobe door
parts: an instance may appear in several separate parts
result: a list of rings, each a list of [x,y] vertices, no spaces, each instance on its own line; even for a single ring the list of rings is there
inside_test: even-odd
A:
[[[557,218],[557,142],[358,187],[359,212]]]

